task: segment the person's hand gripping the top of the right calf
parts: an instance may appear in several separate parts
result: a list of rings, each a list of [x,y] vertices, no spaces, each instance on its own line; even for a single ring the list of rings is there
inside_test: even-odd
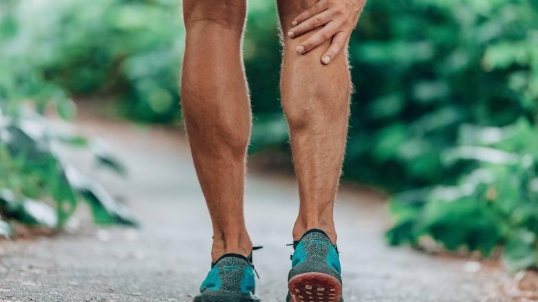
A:
[[[288,37],[294,39],[310,30],[322,28],[299,44],[295,50],[299,54],[306,54],[332,38],[328,50],[321,56],[321,63],[330,63],[348,43],[365,3],[366,0],[319,0],[301,12],[293,19],[293,28],[288,32]]]

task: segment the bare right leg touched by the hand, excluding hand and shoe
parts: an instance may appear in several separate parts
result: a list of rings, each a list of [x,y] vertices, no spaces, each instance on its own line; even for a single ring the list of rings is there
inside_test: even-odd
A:
[[[283,32],[290,30],[297,14],[315,2],[278,0]],[[330,41],[306,54],[297,54],[295,48],[314,32],[296,39],[283,35],[281,99],[290,125],[300,199],[292,235],[294,240],[299,240],[307,230],[318,228],[336,243],[333,208],[346,148],[350,72],[344,52],[329,65],[319,61]]]

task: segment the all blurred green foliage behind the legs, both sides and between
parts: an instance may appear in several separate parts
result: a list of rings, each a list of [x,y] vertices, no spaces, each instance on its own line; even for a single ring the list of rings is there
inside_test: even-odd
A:
[[[275,1],[248,3],[250,153],[289,170]],[[181,128],[184,38],[178,0],[0,1],[0,233],[11,221],[62,227],[80,201],[97,223],[136,224],[57,148],[89,148],[119,174],[121,161],[48,117],[90,103],[110,119]],[[349,59],[343,181],[391,194],[388,243],[421,248],[428,236],[535,268],[538,1],[369,0]]]

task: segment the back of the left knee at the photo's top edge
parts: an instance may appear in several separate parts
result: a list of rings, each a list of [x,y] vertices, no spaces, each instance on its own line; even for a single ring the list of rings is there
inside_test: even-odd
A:
[[[217,26],[228,30],[243,32],[246,20],[244,1],[183,1],[183,19],[187,32],[202,26]]]

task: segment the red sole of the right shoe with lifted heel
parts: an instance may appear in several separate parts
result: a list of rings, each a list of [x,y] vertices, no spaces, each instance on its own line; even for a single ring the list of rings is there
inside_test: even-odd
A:
[[[342,285],[330,274],[305,272],[292,276],[288,282],[291,302],[339,302]]]

